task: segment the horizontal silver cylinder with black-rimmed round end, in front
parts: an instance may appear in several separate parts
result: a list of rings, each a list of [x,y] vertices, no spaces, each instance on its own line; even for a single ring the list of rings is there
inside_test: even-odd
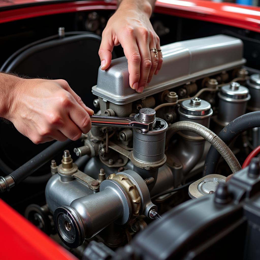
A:
[[[107,188],[75,199],[70,206],[58,207],[54,212],[54,222],[62,241],[70,248],[76,248],[85,238],[93,237],[118,219],[123,212],[119,192],[124,191]]]

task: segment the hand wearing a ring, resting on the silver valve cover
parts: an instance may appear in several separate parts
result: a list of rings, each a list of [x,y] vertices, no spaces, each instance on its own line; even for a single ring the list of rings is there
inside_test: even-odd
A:
[[[153,74],[156,75],[162,66],[162,53],[158,52],[155,57],[155,53],[150,51],[152,48],[160,49],[160,39],[149,21],[151,5],[146,1],[139,1],[139,5],[130,2],[122,1],[108,20],[102,33],[99,56],[101,69],[107,69],[113,47],[121,44],[128,60],[129,84],[137,92],[143,92]]]

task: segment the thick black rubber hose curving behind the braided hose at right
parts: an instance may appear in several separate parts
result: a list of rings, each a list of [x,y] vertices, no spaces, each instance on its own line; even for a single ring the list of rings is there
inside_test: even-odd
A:
[[[260,111],[239,116],[224,127],[218,136],[229,145],[238,135],[254,127],[260,127]],[[205,160],[203,176],[216,172],[219,158],[220,154],[211,146]]]

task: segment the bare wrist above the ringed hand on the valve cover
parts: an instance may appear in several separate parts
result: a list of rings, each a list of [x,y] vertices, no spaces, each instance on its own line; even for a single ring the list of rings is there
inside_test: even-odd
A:
[[[122,0],[119,2],[119,9],[125,9],[125,10],[136,10],[138,12],[143,12],[146,14],[149,18],[152,15],[153,6],[151,4],[151,1],[148,0]]]

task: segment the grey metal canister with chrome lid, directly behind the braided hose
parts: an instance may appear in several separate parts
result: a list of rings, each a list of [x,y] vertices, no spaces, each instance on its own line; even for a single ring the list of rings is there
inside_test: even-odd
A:
[[[213,114],[210,103],[198,97],[181,102],[178,112],[180,114],[180,121],[196,122],[207,128],[209,128],[210,117]],[[191,138],[199,136],[188,131],[183,131],[182,133]]]

